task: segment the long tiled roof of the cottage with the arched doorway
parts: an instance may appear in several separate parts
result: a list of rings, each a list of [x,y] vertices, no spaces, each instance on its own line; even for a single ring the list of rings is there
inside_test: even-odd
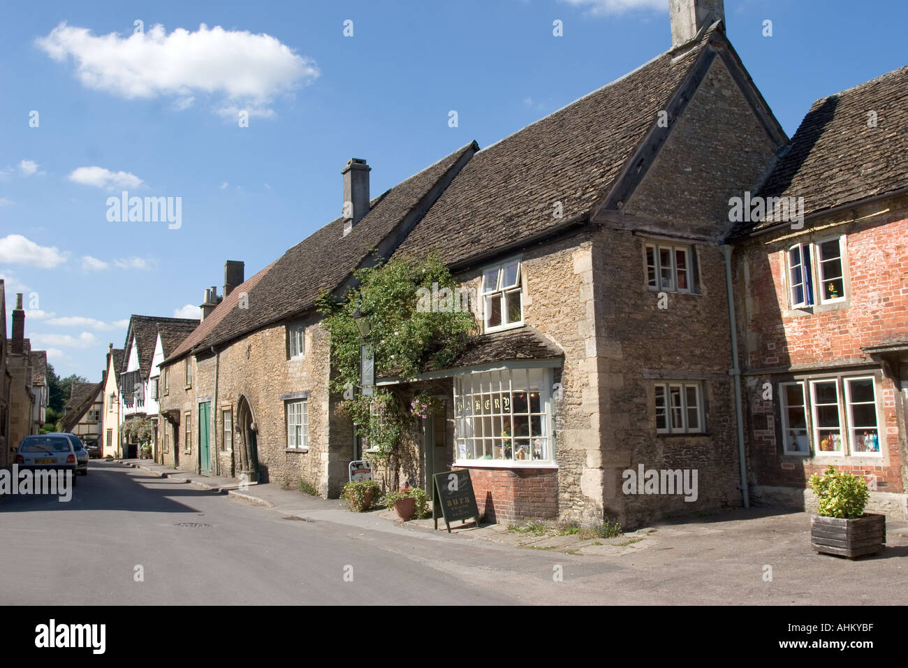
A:
[[[323,288],[334,290],[341,285],[411,213],[430,204],[429,197],[439,182],[475,149],[475,142],[462,146],[373,199],[369,213],[353,226],[350,234],[343,234],[344,220],[336,218],[293,246],[262,272],[251,289],[244,290],[249,308],[235,308],[235,302],[224,300],[212,312],[222,311],[220,320],[202,337],[193,333],[192,346],[207,347],[229,341],[310,309]],[[200,329],[211,317],[202,321]],[[172,357],[185,352],[181,345]]]

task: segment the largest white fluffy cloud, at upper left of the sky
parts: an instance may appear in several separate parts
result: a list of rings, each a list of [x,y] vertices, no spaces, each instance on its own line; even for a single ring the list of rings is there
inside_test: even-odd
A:
[[[311,58],[271,35],[200,25],[197,31],[163,25],[143,34],[92,35],[88,28],[57,25],[35,40],[56,61],[72,57],[88,88],[127,99],[170,96],[178,108],[194,95],[216,95],[227,107],[251,105],[267,113],[274,95],[309,84],[321,74]],[[272,113],[272,112],[271,112]]]

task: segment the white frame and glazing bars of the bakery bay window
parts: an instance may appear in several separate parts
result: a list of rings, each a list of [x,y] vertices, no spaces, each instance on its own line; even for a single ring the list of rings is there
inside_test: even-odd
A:
[[[513,408],[516,405],[514,395],[524,392],[531,392],[534,381],[530,380],[530,374],[539,374],[541,380],[538,384],[538,402],[539,412],[532,411],[532,402],[527,398],[527,412],[515,413]],[[521,377],[522,376],[522,377]],[[481,372],[477,374],[460,374],[454,377],[454,464],[458,466],[482,466],[493,468],[558,468],[555,454],[555,437],[553,411],[554,404],[552,398],[552,376],[553,372],[545,367],[531,368],[506,368],[490,372]],[[526,388],[526,389],[525,389]],[[507,397],[508,406],[504,405]],[[484,405],[488,398],[489,405]],[[498,398],[501,404],[498,410],[492,405]],[[473,408],[467,409],[468,401],[472,404],[479,399],[479,413]],[[517,424],[516,418],[526,416],[529,433],[507,434],[502,430],[501,434],[486,434],[487,425],[492,432],[498,424],[505,425],[506,417],[510,418],[508,424],[511,431]],[[540,433],[533,434],[533,417],[538,416],[538,428]],[[479,429],[478,429],[479,427]],[[526,444],[523,440],[526,439]],[[479,455],[479,444],[482,444],[482,453]],[[472,445],[473,457],[461,456],[469,453]],[[525,445],[527,450],[522,454],[525,459],[518,459],[521,454],[520,447]],[[495,458],[500,450],[501,457]],[[510,449],[510,457],[505,458],[506,448]],[[539,449],[540,456],[534,459],[536,449]],[[487,453],[487,451],[489,451]],[[492,458],[486,459],[489,454]]]

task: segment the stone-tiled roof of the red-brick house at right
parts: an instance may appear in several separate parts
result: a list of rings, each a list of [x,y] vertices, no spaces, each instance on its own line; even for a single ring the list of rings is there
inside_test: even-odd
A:
[[[814,102],[758,194],[804,197],[804,214],[813,214],[906,186],[908,65]],[[743,223],[735,237],[774,224],[771,216]]]

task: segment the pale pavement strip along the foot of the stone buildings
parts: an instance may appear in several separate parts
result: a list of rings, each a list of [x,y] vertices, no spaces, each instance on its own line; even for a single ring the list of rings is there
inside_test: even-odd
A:
[[[729,509],[713,513],[698,513],[686,518],[665,520],[653,527],[646,527],[631,533],[623,533],[617,538],[580,538],[574,535],[558,535],[552,528],[527,530],[522,532],[509,530],[501,524],[475,523],[451,525],[448,533],[445,524],[439,521],[439,530],[435,531],[431,518],[400,522],[396,513],[383,508],[373,509],[368,513],[351,513],[338,499],[322,499],[318,496],[302,494],[292,487],[281,487],[278,484],[248,484],[240,489],[234,478],[222,478],[201,474],[190,474],[180,470],[154,464],[150,460],[117,460],[121,464],[141,469],[147,474],[160,475],[172,481],[185,481],[195,484],[214,493],[228,494],[248,503],[256,503],[279,511],[284,516],[299,517],[302,520],[333,522],[348,526],[370,529],[386,533],[422,536],[429,540],[485,540],[501,546],[544,550],[553,553],[577,554],[582,556],[617,557],[652,550],[674,550],[682,543],[695,543],[707,536],[718,538],[718,534],[727,533],[731,543],[741,545],[747,537],[762,541],[766,536],[785,534],[788,539],[803,534],[801,543],[795,539],[792,548],[799,552],[813,553],[810,548],[809,513],[800,513],[785,508],[750,508]],[[886,521],[887,551],[890,555],[908,554],[908,524]],[[803,544],[802,544],[803,543]],[[746,548],[741,548],[746,549]],[[814,553],[815,554],[815,553]]]

